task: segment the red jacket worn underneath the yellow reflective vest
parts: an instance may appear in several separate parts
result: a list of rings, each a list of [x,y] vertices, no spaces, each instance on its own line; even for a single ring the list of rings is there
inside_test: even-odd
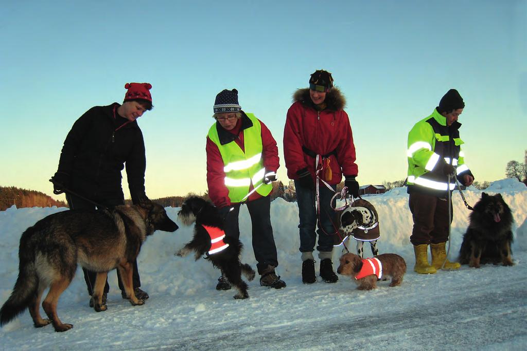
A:
[[[243,112],[242,112],[243,113]],[[260,121],[260,119],[258,119]],[[243,113],[238,120],[236,127],[232,131],[226,131],[218,122],[218,135],[220,141],[236,142],[242,150],[245,151],[243,144],[243,130],[252,127],[249,117]],[[275,138],[272,137],[269,128],[260,121],[261,136],[262,136],[262,158],[264,158],[264,167],[266,172],[276,172],[280,166],[280,158],[278,157],[278,147],[276,146]],[[223,144],[222,144],[223,145]],[[230,206],[229,190],[225,186],[225,172],[223,172],[223,159],[221,158],[218,146],[207,137],[207,184],[209,186],[209,197],[217,207]],[[252,190],[252,184],[249,191]],[[257,192],[252,193],[248,201],[260,198],[261,195]]]

